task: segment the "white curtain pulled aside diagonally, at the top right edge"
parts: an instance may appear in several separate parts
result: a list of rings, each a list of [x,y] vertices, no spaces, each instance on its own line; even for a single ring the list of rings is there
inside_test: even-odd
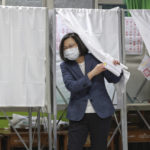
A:
[[[130,10],[150,55],[150,10]]]

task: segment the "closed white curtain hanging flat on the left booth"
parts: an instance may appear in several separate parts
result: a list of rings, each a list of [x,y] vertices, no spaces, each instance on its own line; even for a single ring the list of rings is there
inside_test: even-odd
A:
[[[45,105],[46,8],[0,6],[0,107]]]

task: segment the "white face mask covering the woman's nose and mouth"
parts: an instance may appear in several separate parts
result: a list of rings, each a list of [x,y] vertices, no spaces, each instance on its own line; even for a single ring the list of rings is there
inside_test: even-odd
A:
[[[68,48],[64,51],[64,57],[69,60],[76,60],[79,55],[80,53],[78,47]]]

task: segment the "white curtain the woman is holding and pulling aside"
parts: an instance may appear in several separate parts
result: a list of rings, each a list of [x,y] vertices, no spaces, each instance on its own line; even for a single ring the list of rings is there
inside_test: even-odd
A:
[[[124,76],[116,84],[118,93],[124,92],[130,73],[123,64],[114,66],[113,60],[119,59],[119,12],[118,9],[73,9],[57,8],[65,24],[79,34],[89,51],[100,61],[106,62],[106,68],[119,76]],[[118,96],[120,97],[120,96]]]

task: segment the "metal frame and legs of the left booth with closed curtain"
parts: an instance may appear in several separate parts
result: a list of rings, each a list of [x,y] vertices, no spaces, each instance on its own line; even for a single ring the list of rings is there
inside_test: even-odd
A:
[[[44,110],[43,112],[43,108],[42,107],[0,107],[0,111],[3,113],[3,115],[6,117],[6,119],[8,120],[9,124],[12,126],[14,132],[16,133],[16,135],[18,136],[19,140],[22,142],[22,144],[24,145],[24,147],[26,148],[26,150],[32,150],[33,146],[33,140],[34,140],[34,134],[35,131],[34,129],[37,127],[37,139],[38,139],[38,150],[42,150],[43,148],[41,147],[41,136],[40,136],[40,113],[46,113],[47,114],[47,132],[48,132],[48,143],[49,143],[49,150],[52,150],[52,123],[51,123],[51,115],[52,115],[52,110],[51,110],[51,89],[50,89],[50,85],[51,85],[51,77],[52,77],[52,73],[51,73],[51,63],[50,61],[52,61],[50,59],[50,53],[51,53],[51,49],[50,48],[50,41],[49,41],[49,16],[48,16],[48,8],[46,9],[47,13],[46,13],[46,65],[45,65],[45,70],[46,70],[46,99],[47,99],[47,108]],[[21,137],[21,135],[19,134],[19,132],[17,131],[17,129],[12,125],[10,118],[8,117],[8,115],[6,114],[6,112],[10,112],[10,111],[24,111],[24,112],[28,112],[28,118],[29,118],[29,146],[26,145],[25,141],[23,140],[23,138]],[[37,112],[37,122],[36,122],[36,126],[32,127],[32,112]],[[32,129],[33,129],[33,135],[32,135]]]

